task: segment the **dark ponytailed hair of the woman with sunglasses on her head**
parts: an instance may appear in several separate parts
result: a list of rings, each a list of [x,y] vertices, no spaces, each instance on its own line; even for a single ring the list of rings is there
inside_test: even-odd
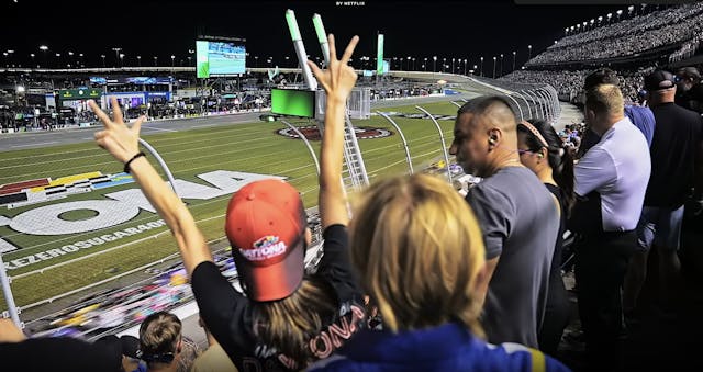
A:
[[[563,210],[569,214],[573,202],[576,201],[576,194],[573,193],[573,157],[571,151],[563,147],[563,143],[557,135],[554,127],[543,120],[531,119],[527,121],[532,126],[539,132],[539,134],[547,142],[547,159],[549,160],[549,167],[554,180],[557,182],[561,193],[563,194]],[[525,133],[527,147],[531,151],[539,151],[544,145],[524,124],[517,125],[517,133]]]

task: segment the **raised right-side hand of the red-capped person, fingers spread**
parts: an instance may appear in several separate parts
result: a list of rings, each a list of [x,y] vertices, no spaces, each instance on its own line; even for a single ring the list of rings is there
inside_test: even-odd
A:
[[[330,34],[327,36],[327,43],[330,44],[330,66],[327,66],[327,69],[321,70],[315,63],[308,60],[308,66],[317,78],[317,82],[327,92],[328,100],[334,99],[346,102],[349,97],[352,88],[356,83],[357,75],[354,68],[347,64],[358,42],[359,36],[352,37],[349,45],[344,50],[344,55],[342,55],[342,59],[337,59],[334,35]]]

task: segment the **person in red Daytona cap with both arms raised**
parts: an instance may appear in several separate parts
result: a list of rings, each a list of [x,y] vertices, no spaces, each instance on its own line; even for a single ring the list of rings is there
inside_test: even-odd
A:
[[[313,69],[327,91],[325,127],[344,122],[346,99],[356,82],[347,63],[357,43],[354,37],[337,60],[330,36],[334,61],[325,71]],[[347,259],[348,212],[339,182],[343,143],[337,142],[335,131],[324,131],[322,140],[319,205],[324,256],[316,273],[304,273],[311,233],[293,187],[279,180],[255,181],[232,198],[225,230],[244,295],[213,263],[188,208],[141,155],[138,134],[144,117],[130,128],[119,109],[111,120],[94,102],[90,106],[104,124],[104,131],[96,134],[98,145],[125,164],[125,171],[168,224],[190,274],[200,315],[238,370],[304,369],[360,329],[366,317],[364,296]],[[338,329],[344,330],[342,335]],[[331,337],[335,342],[327,342]]]

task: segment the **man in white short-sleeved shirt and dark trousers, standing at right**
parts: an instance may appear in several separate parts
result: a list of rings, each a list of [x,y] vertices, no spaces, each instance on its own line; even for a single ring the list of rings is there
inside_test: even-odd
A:
[[[568,226],[578,234],[573,250],[587,361],[599,371],[621,363],[621,288],[650,170],[647,140],[623,108],[617,86],[587,91],[585,123],[601,140],[574,168],[578,201]]]

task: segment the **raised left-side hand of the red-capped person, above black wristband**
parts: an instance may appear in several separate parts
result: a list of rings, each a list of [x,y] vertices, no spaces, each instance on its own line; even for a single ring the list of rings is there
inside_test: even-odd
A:
[[[122,110],[120,110],[118,99],[113,97],[110,102],[113,110],[112,119],[94,101],[88,101],[90,110],[98,115],[104,126],[103,131],[96,133],[96,142],[98,146],[112,154],[115,159],[126,162],[140,151],[140,129],[146,117],[140,116],[132,127],[127,127],[122,119]]]

